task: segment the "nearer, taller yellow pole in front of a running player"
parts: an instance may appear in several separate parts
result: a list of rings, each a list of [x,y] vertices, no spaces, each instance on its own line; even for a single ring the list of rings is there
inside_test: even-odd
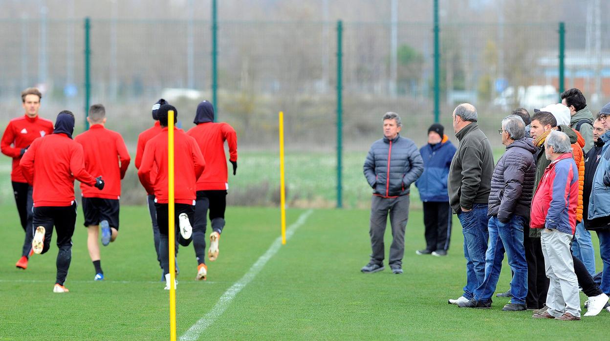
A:
[[[176,341],[176,212],[174,212],[174,110],[167,113],[167,168],[168,193],[167,203],[168,245],[170,246],[170,340]]]

